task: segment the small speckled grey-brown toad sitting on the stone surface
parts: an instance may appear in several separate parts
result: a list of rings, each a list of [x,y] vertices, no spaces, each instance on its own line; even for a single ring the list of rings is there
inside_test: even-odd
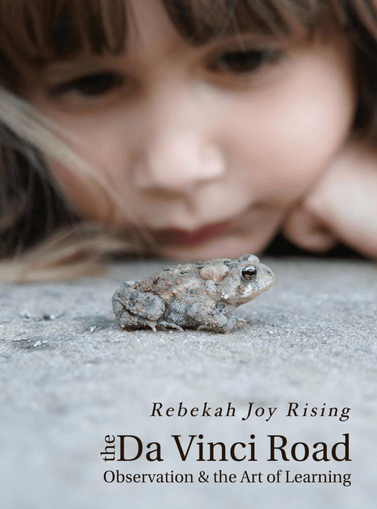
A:
[[[245,323],[228,314],[268,290],[274,279],[253,254],[169,266],[147,279],[125,282],[113,296],[113,309],[126,330],[184,327],[225,333]]]

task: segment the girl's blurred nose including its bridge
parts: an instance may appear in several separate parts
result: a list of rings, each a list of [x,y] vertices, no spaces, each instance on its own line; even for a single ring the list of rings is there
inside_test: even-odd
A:
[[[148,134],[133,165],[139,189],[186,193],[225,173],[224,154],[206,133],[208,112],[192,94],[174,95],[160,97],[149,111]]]

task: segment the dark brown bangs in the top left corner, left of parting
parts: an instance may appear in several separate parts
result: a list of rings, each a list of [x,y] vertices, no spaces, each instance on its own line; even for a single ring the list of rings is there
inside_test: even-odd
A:
[[[1,0],[0,66],[14,58],[45,65],[86,48],[123,51],[124,0]]]

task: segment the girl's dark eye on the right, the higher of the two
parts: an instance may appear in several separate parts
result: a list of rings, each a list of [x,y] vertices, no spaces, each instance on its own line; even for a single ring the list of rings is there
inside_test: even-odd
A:
[[[278,50],[237,51],[219,56],[210,68],[214,71],[227,71],[234,74],[256,71],[266,63],[277,62],[282,56]]]

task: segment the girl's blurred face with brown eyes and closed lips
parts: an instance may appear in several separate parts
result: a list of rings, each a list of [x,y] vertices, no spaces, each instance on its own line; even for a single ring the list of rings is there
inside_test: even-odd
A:
[[[79,140],[124,207],[52,163],[86,217],[146,229],[169,257],[260,251],[344,143],[353,51],[239,35],[194,47],[158,0],[131,0],[127,50],[48,65],[25,95]]]

